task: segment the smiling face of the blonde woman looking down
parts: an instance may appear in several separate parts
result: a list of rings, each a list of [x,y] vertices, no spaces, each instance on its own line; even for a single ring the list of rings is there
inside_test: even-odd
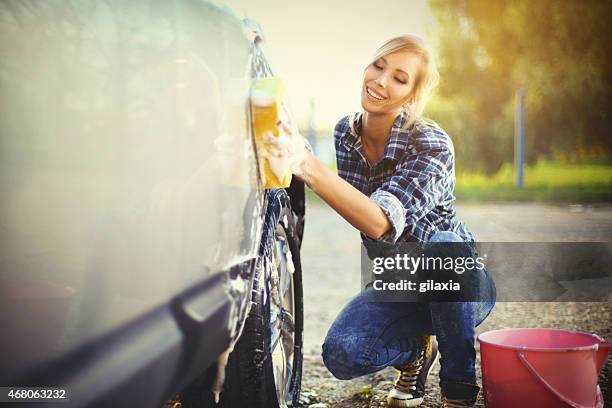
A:
[[[361,106],[370,113],[399,114],[412,101],[421,57],[410,51],[395,51],[368,65],[363,75]]]

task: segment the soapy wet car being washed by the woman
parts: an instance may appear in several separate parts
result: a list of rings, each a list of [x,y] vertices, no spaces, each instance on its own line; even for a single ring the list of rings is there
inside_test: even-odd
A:
[[[304,184],[263,187],[263,44],[207,1],[0,3],[2,398],[298,405]]]

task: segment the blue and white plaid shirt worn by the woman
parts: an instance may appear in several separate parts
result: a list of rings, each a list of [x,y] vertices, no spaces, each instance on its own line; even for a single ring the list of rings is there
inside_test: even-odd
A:
[[[383,157],[370,166],[361,144],[361,114],[351,131],[349,117],[334,129],[338,175],[369,196],[387,214],[392,228],[380,240],[426,242],[436,231],[453,231],[465,242],[474,236],[455,219],[454,146],[433,122],[423,120],[402,131],[406,114],[398,115]],[[361,234],[364,241],[375,241]]]

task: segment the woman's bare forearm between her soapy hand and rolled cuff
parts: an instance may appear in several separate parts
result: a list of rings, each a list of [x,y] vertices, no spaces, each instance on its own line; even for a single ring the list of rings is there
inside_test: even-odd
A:
[[[301,162],[304,182],[352,226],[373,239],[391,227],[389,218],[370,197],[340,178],[309,153]]]

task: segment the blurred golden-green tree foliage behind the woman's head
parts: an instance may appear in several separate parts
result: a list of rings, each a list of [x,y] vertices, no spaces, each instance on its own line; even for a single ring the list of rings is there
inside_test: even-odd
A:
[[[442,82],[430,116],[458,164],[512,160],[514,94],[526,96],[527,159],[610,158],[611,1],[430,0]]]

